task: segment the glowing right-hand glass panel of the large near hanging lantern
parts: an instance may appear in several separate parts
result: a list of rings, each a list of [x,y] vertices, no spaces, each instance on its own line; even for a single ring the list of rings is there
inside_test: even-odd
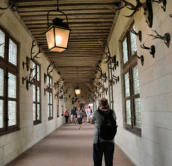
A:
[[[56,47],[67,48],[70,30],[55,27]]]

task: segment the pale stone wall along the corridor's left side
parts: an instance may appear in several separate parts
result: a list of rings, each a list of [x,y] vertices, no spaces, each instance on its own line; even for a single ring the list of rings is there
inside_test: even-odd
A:
[[[23,70],[22,68],[22,62],[25,61],[26,56],[30,56],[32,37],[22,25],[20,18],[17,15],[15,16],[9,9],[1,11],[0,26],[6,29],[20,43],[20,130],[0,136],[0,166],[3,166],[50,134],[57,127],[60,127],[63,124],[63,117],[61,116],[60,107],[60,116],[57,118],[56,99],[54,97],[54,118],[53,120],[48,120],[48,99],[47,95],[44,96],[44,88],[46,87],[44,84],[44,73],[46,73],[49,61],[41,53],[39,55],[41,58],[38,59],[38,62],[41,64],[42,123],[33,125],[32,87],[27,91],[26,86],[22,84],[22,77],[28,75],[26,69]],[[54,82],[59,79],[59,75],[55,71],[53,71],[52,76]],[[61,101],[60,105],[64,105],[65,109],[64,101]]]

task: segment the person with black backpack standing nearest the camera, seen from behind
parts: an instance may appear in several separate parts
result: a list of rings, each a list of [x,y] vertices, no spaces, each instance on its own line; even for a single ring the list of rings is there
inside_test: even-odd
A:
[[[99,101],[98,110],[93,113],[92,121],[95,123],[95,131],[94,131],[94,143],[93,143],[93,160],[94,166],[101,166],[102,165],[102,157],[104,155],[105,158],[105,165],[106,166],[113,166],[113,154],[114,154],[114,135],[110,136],[110,139],[103,139],[101,137],[100,130],[102,129],[102,124],[105,123],[105,119],[107,121],[107,117],[112,119],[115,123],[116,127],[116,115],[115,112],[109,109],[108,101],[105,98],[102,98]],[[108,134],[109,135],[109,134]],[[110,133],[111,135],[111,133]]]

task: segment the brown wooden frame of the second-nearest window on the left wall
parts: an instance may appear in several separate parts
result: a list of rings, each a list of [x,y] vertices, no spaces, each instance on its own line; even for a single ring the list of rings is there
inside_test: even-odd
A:
[[[35,89],[35,102],[33,101],[33,104],[35,104],[35,118],[36,120],[33,120],[33,124],[34,125],[37,125],[37,124],[40,124],[42,122],[42,107],[41,107],[41,64],[38,63],[38,61],[36,60],[32,60],[32,62],[36,65],[36,72],[37,72],[37,66],[39,66],[39,81],[37,81],[37,76],[36,76],[36,80],[33,79],[33,85],[32,86],[35,86],[36,89]],[[32,63],[32,64],[33,64]],[[39,87],[39,102],[37,102],[37,87]],[[40,106],[40,112],[39,112],[39,115],[40,115],[40,120],[37,119],[37,105],[39,104]]]

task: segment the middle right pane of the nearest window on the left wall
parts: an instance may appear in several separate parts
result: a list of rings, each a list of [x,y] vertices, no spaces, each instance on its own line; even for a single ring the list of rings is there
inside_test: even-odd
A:
[[[8,73],[8,97],[16,98],[16,76]]]

